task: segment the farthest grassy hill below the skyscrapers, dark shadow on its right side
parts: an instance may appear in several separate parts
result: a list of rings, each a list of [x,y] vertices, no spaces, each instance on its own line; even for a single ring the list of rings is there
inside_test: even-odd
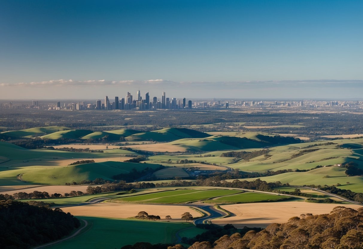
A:
[[[136,133],[126,138],[127,141],[157,141],[166,142],[181,138],[206,138],[207,133],[195,131],[187,128],[164,128],[157,131],[146,131]]]

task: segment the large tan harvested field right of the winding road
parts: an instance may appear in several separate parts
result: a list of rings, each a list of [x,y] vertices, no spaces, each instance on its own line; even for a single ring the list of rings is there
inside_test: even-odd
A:
[[[305,213],[320,215],[330,213],[334,207],[342,204],[307,203],[305,201],[288,201],[276,203],[246,203],[222,205],[225,210],[233,213],[231,217],[212,220],[217,225],[233,224],[237,228],[262,227],[271,223],[285,223],[291,217],[300,216]],[[360,205],[345,205],[345,207],[358,209]]]

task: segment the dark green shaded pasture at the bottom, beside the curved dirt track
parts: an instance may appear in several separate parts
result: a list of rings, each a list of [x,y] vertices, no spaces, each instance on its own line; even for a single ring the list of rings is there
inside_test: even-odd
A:
[[[126,219],[110,219],[101,217],[77,217],[86,220],[92,225],[90,228],[71,240],[49,246],[52,249],[79,249],[79,248],[121,248],[133,245],[136,242],[174,243],[176,233],[188,229],[188,234],[196,236],[201,233],[191,223],[174,223],[159,221],[141,221]],[[195,231],[195,233],[193,233]],[[181,233],[182,235],[183,233]]]

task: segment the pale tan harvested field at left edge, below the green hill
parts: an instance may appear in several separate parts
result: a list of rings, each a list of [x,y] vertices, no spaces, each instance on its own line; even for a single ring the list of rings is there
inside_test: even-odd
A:
[[[64,193],[69,193],[70,191],[82,191],[83,193],[86,193],[86,189],[89,185],[72,185],[72,186],[66,186],[66,185],[47,185],[47,186],[40,186],[40,185],[32,185],[32,187],[21,186],[22,188],[15,189],[14,187],[20,187],[20,186],[9,186],[8,190],[4,189],[4,187],[0,188],[0,194],[5,195],[7,193],[8,195],[13,195],[15,193],[19,192],[25,192],[25,193],[32,193],[33,191],[40,191],[40,192],[48,192],[49,194],[54,193],[61,193],[62,195]],[[92,185],[92,187],[96,187],[98,185]],[[11,188],[10,188],[11,187]],[[4,190],[3,190],[4,189]]]

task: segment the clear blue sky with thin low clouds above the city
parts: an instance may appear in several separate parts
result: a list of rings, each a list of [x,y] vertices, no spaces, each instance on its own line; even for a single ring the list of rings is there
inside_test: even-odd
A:
[[[321,97],[363,93],[359,84],[344,86],[363,79],[363,1],[0,4],[0,98],[97,98],[138,87],[175,97],[243,98],[245,90],[249,97],[308,98],[317,87],[326,89]],[[301,82],[299,93],[288,82],[268,83],[307,79],[343,81]],[[236,91],[224,92],[229,87]]]

